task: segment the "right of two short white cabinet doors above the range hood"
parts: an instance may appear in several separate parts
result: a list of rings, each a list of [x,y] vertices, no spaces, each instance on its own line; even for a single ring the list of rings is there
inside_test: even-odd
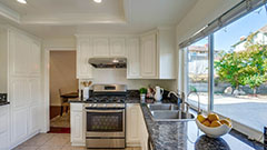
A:
[[[112,38],[110,39],[110,56],[111,57],[126,57],[125,39]]]

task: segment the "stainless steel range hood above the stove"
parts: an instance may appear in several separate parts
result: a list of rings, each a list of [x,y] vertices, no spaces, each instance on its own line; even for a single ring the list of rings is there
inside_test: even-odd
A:
[[[90,58],[88,61],[95,68],[126,68],[126,58]]]

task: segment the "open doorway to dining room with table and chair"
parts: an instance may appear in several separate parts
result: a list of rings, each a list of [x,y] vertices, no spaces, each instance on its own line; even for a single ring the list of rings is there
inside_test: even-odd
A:
[[[76,51],[51,50],[49,58],[49,132],[69,133],[69,100],[78,98]]]

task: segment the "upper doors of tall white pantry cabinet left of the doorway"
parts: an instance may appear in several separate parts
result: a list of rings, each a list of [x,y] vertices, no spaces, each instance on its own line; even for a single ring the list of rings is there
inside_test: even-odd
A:
[[[11,76],[40,76],[40,42],[24,34],[9,31]]]

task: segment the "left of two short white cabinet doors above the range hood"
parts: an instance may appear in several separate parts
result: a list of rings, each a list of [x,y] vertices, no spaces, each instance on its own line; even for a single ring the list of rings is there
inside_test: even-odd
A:
[[[93,57],[109,57],[108,38],[93,38]]]

